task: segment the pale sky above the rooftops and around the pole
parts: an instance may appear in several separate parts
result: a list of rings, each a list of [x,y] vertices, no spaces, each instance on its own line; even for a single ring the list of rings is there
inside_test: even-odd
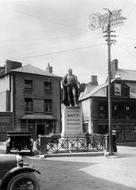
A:
[[[108,49],[102,29],[91,30],[89,15],[121,9],[124,24],[114,27],[111,59],[136,70],[135,0],[0,0],[0,65],[7,59],[43,70],[47,64],[63,77],[69,68],[80,83],[108,73]]]

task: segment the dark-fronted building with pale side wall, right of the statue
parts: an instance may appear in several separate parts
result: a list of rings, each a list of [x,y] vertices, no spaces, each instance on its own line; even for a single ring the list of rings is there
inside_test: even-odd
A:
[[[118,68],[118,60],[111,64],[112,129],[118,141],[136,141],[136,71]],[[84,132],[108,133],[108,83],[98,85],[97,76],[87,84],[80,96]]]

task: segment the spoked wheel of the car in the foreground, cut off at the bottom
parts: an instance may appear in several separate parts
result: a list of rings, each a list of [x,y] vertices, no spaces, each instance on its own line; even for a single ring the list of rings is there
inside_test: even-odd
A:
[[[40,190],[39,180],[32,173],[20,173],[9,181],[7,190]]]

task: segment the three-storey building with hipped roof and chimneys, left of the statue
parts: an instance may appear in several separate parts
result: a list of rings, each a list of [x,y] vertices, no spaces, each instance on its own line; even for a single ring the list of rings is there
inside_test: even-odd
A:
[[[52,73],[52,67],[48,64],[44,71],[7,60],[0,69],[0,133],[28,130],[34,138],[60,133],[61,77]]]

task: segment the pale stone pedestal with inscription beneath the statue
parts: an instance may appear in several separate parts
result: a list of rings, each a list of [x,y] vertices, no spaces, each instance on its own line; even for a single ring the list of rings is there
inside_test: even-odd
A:
[[[82,113],[79,106],[65,107],[62,113],[61,137],[84,137],[82,131]]]

